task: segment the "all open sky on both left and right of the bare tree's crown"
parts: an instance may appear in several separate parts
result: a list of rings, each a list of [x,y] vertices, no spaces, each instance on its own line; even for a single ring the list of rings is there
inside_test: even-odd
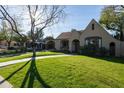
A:
[[[20,18],[19,22],[22,22],[22,28],[24,28],[24,32],[30,30],[29,21],[21,21],[21,17],[23,16],[25,19],[28,19],[29,15],[25,6],[9,6],[11,7],[9,13],[11,15],[18,15]],[[62,32],[71,31],[71,29],[83,30],[86,28],[88,23],[95,19],[99,21],[101,10],[104,6],[101,5],[68,5],[65,6],[64,11],[66,13],[65,19],[59,22],[56,25],[46,29],[44,31],[44,37],[53,36],[56,38]],[[20,11],[20,12],[18,12]],[[25,11],[25,12],[24,12]]]

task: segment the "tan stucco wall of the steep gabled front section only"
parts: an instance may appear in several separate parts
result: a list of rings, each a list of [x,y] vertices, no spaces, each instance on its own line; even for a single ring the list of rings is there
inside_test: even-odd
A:
[[[92,30],[91,26],[92,24],[95,25],[95,29]],[[90,24],[87,26],[87,28],[82,32],[80,36],[80,45],[84,46],[85,45],[85,38],[86,37],[93,37],[93,36],[98,36],[102,38],[102,47],[105,47],[109,49],[109,44],[111,42],[115,43],[115,55],[120,56],[120,41],[114,39],[112,36],[108,34],[107,31],[105,31],[95,20],[92,20]]]

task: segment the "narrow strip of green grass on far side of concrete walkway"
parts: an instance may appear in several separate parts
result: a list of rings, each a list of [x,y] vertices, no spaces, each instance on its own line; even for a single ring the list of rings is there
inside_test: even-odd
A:
[[[63,54],[63,53],[59,53],[59,52],[37,52],[36,56],[48,56],[48,55],[57,55],[57,54]],[[11,61],[11,60],[18,60],[18,59],[23,59],[23,58],[30,58],[32,56],[32,53],[25,53],[25,54],[20,54],[17,56],[11,56],[11,57],[1,57],[0,58],[0,62],[6,62],[6,61]]]

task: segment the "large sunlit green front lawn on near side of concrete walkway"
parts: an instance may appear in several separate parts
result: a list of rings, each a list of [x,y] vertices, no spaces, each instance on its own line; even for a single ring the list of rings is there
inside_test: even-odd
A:
[[[14,87],[20,87],[25,76],[27,82],[31,77],[26,75],[30,62],[21,70],[14,71],[26,63],[10,65],[0,69],[0,75]],[[124,64],[119,58],[92,58],[87,56],[70,56],[48,58],[36,61],[36,68],[41,77],[40,82],[35,78],[32,87],[53,88],[120,88],[124,87]],[[35,70],[33,70],[35,71]],[[35,75],[34,75],[35,76]],[[24,82],[23,82],[24,83]]]

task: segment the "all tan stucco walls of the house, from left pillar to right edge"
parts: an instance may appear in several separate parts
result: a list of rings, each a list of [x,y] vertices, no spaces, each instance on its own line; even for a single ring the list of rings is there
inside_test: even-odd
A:
[[[92,30],[92,24],[94,24],[94,30]],[[79,33],[78,31],[72,31],[71,37],[69,38],[69,51],[72,52],[73,46],[72,41],[77,39],[80,42],[80,46],[85,45],[85,39],[87,37],[101,37],[102,47],[106,49],[110,48],[110,43],[115,43],[115,56],[124,56],[124,42],[120,42],[113,38],[109,33],[101,27],[94,19],[88,24],[86,29]],[[57,50],[60,49],[60,40],[55,40],[55,47]]]

